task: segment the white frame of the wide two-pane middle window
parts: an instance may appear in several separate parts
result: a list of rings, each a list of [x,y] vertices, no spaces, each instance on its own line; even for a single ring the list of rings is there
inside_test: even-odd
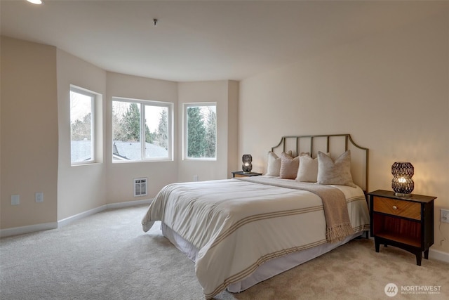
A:
[[[145,100],[136,98],[127,98],[112,96],[112,104],[114,102],[123,103],[136,103],[140,107],[140,150],[142,158],[140,160],[114,160],[114,124],[112,124],[112,119],[114,118],[113,110],[111,109],[111,141],[112,141],[112,163],[113,164],[128,164],[128,163],[138,163],[138,162],[173,162],[173,107],[174,103],[156,101],[156,100]],[[149,157],[145,156],[145,106],[156,106],[156,107],[166,107],[167,108],[167,131],[168,131],[168,157]]]

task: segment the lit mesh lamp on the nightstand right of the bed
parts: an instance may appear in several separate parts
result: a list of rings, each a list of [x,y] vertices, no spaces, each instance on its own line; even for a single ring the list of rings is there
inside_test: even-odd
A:
[[[413,183],[412,176],[415,169],[410,162],[395,162],[391,166],[391,188],[394,190],[394,195],[400,197],[410,197],[415,183]]]

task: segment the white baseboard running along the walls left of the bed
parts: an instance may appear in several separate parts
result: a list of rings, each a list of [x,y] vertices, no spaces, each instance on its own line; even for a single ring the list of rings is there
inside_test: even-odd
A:
[[[1,229],[0,237],[10,237],[12,235],[23,235],[25,233],[34,233],[36,231],[41,231],[41,230],[56,229],[56,228],[60,228],[62,226],[66,226],[69,223],[72,223],[79,219],[86,218],[86,216],[91,216],[93,214],[99,213],[100,211],[105,211],[106,209],[120,209],[123,207],[133,207],[135,205],[150,204],[151,202],[152,202],[152,199],[146,199],[146,200],[136,200],[136,201],[105,204],[100,207],[96,207],[95,209],[89,209],[88,211],[83,211],[80,214],[76,214],[74,216],[69,216],[68,218],[59,220],[58,222],[41,223],[41,224],[30,225],[30,226]]]

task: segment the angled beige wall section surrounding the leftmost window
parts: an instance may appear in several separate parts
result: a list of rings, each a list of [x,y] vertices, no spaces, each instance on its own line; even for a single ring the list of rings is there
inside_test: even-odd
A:
[[[105,100],[98,98],[95,132],[98,163],[70,163],[70,85],[105,95],[106,72],[58,49],[58,221],[106,204],[106,168],[102,157]]]

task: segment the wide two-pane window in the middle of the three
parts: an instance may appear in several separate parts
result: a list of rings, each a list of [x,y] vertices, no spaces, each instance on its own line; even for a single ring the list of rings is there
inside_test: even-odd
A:
[[[171,160],[173,103],[112,98],[112,161]]]

